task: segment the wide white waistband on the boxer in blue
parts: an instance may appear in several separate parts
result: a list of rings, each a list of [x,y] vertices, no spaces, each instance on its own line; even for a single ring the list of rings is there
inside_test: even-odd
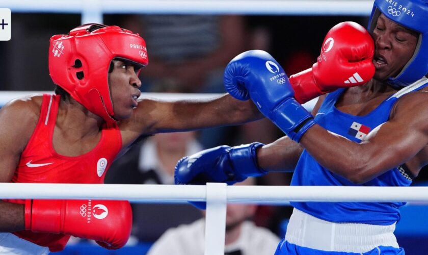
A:
[[[325,251],[367,252],[378,246],[398,248],[392,225],[335,223],[294,209],[285,240],[303,247]]]

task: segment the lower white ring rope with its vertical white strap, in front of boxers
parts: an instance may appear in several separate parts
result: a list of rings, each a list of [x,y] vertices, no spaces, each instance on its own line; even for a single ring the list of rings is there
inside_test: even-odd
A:
[[[205,255],[224,254],[226,204],[311,202],[426,202],[428,187],[226,186],[122,184],[0,184],[0,198],[108,199],[146,203],[206,201]]]

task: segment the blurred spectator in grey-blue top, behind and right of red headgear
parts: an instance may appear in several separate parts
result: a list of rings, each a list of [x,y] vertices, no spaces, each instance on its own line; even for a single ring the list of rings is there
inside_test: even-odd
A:
[[[185,92],[225,92],[224,67],[244,50],[242,16],[141,15],[126,22],[126,28],[143,36],[149,50],[143,90],[171,78]]]

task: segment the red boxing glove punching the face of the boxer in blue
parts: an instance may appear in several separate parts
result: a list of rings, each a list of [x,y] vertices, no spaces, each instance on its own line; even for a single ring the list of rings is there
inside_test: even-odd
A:
[[[367,83],[373,78],[374,42],[360,24],[346,21],[326,35],[312,68],[291,75],[289,81],[300,104],[338,88]]]

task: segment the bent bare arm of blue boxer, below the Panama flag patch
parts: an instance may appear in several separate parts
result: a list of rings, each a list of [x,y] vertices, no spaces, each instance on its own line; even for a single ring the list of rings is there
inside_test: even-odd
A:
[[[427,115],[428,93],[415,92],[400,98],[390,120],[361,143],[314,125],[302,137],[301,144],[330,171],[354,183],[365,183],[413,159],[426,146]],[[416,176],[420,168],[410,170]]]

